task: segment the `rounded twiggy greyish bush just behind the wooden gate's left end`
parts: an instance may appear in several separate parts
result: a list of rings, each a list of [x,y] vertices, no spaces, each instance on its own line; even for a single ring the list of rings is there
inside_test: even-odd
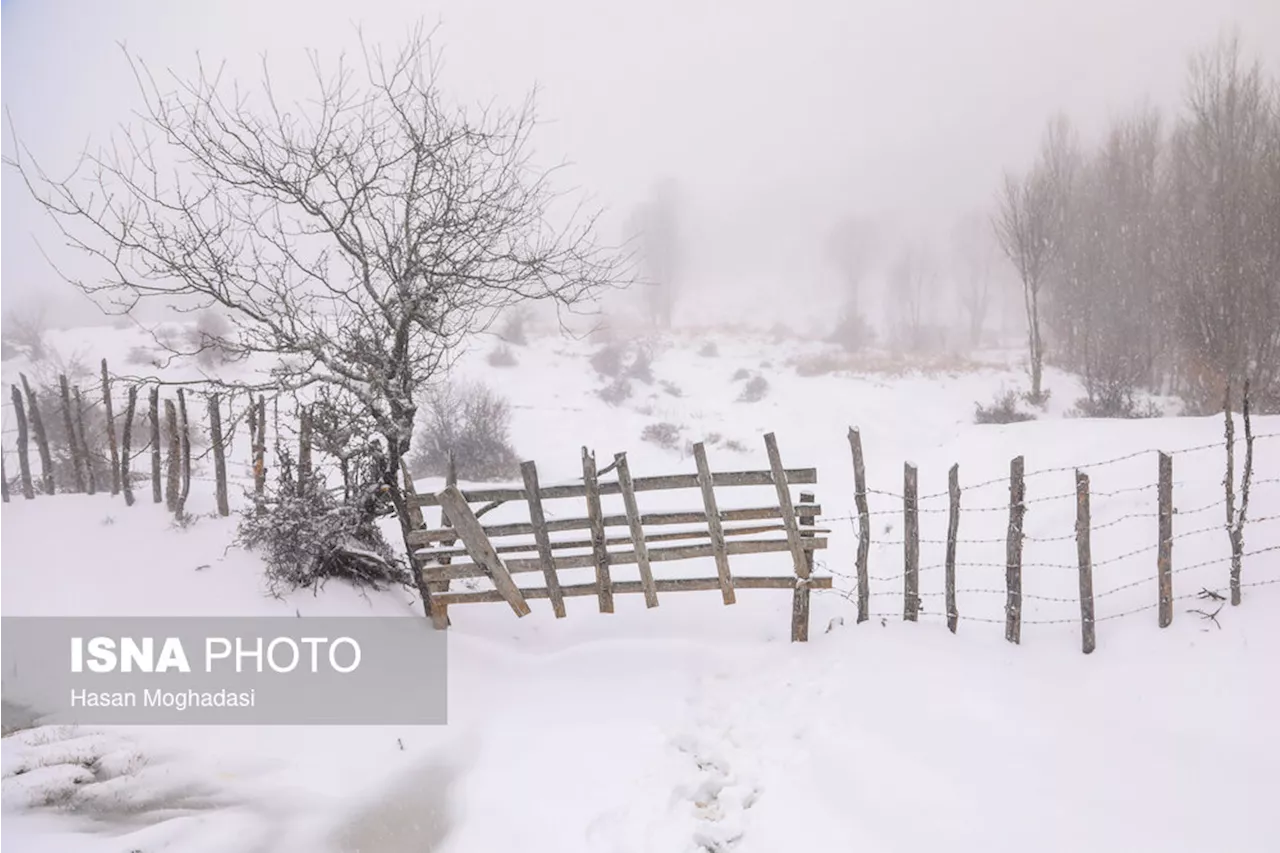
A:
[[[520,459],[511,446],[511,403],[488,386],[444,384],[422,401],[420,419],[410,457],[413,476],[443,476],[451,452],[462,479],[520,475]]]

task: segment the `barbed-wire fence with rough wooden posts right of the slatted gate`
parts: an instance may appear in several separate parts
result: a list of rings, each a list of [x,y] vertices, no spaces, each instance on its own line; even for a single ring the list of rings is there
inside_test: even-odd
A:
[[[822,517],[820,521],[824,524],[836,521],[856,521],[858,523],[858,552],[854,560],[854,573],[845,574],[833,570],[833,574],[847,578],[851,581],[852,589],[841,589],[840,594],[856,602],[858,607],[858,622],[865,622],[869,619],[879,617],[888,619],[896,617],[897,613],[888,612],[873,612],[872,611],[872,598],[876,596],[876,590],[872,589],[872,581],[884,583],[901,583],[901,593],[895,593],[895,596],[901,596],[901,619],[905,621],[918,621],[920,617],[920,602],[922,596],[932,594],[938,596],[943,599],[943,606],[941,611],[936,611],[938,615],[946,617],[947,628],[951,633],[955,633],[957,624],[961,619],[961,613],[957,606],[957,593],[969,594],[991,594],[1002,596],[1005,598],[1004,605],[1004,619],[998,620],[1005,628],[1005,639],[1010,643],[1021,642],[1021,631],[1024,624],[1062,624],[1069,621],[1075,621],[1080,625],[1080,643],[1082,649],[1085,654],[1094,651],[1097,646],[1097,624],[1106,620],[1120,619],[1125,616],[1132,616],[1135,613],[1142,613],[1147,611],[1156,612],[1156,624],[1160,628],[1169,628],[1174,621],[1175,603],[1179,601],[1199,599],[1207,602],[1204,608],[1196,608],[1190,612],[1201,616],[1202,619],[1217,622],[1216,616],[1221,612],[1221,607],[1225,602],[1230,602],[1236,606],[1242,601],[1242,590],[1249,587],[1266,587],[1271,584],[1280,583],[1280,576],[1262,578],[1258,580],[1252,580],[1249,583],[1242,581],[1242,567],[1245,558],[1258,557],[1262,555],[1271,555],[1280,552],[1280,544],[1268,544],[1263,547],[1256,547],[1252,549],[1245,549],[1245,530],[1247,529],[1260,529],[1261,525],[1280,521],[1280,515],[1263,515],[1263,516],[1251,516],[1249,515],[1249,497],[1251,493],[1262,485],[1280,485],[1280,476],[1270,478],[1256,478],[1253,471],[1254,462],[1254,444],[1257,442],[1268,439],[1280,439],[1280,433],[1268,433],[1262,435],[1256,435],[1252,432],[1252,424],[1248,412],[1248,401],[1244,406],[1244,435],[1243,438],[1235,434],[1235,420],[1231,411],[1228,409],[1225,415],[1225,442],[1203,444],[1199,447],[1189,447],[1180,451],[1165,452],[1158,450],[1147,450],[1134,453],[1128,453],[1112,460],[1105,460],[1102,462],[1094,462],[1092,465],[1082,465],[1079,467],[1050,467],[1038,469],[1028,471],[1025,466],[1025,460],[1023,456],[1016,456],[1010,460],[1009,464],[1009,476],[984,480],[980,483],[972,484],[965,489],[960,487],[960,466],[952,465],[948,471],[947,478],[947,491],[938,492],[934,494],[920,496],[916,488],[919,474],[916,467],[906,462],[902,470],[902,488],[901,491],[893,489],[876,489],[868,487],[867,483],[867,466],[863,452],[861,434],[858,429],[849,429],[849,444],[852,453],[854,465],[854,505],[855,515],[842,516],[842,517]],[[1238,451],[1236,446],[1244,444],[1243,453],[1243,466],[1238,469]],[[1225,450],[1225,469],[1226,475],[1220,482],[1203,483],[1203,492],[1211,493],[1215,488],[1222,488],[1220,492],[1221,497],[1202,502],[1194,507],[1175,507],[1174,506],[1174,459],[1175,456],[1183,456],[1189,453],[1198,453],[1213,450]],[[1091,485],[1091,470],[1098,470],[1108,467],[1112,465],[1119,465],[1138,460],[1142,457],[1149,457],[1153,465],[1153,482],[1148,482],[1143,485],[1137,485],[1132,488],[1124,488],[1119,492],[1105,492],[1098,493]],[[1043,478],[1044,475],[1052,474],[1074,474],[1074,492],[1071,493],[1053,493],[1047,496],[1028,497],[1027,480],[1030,478]],[[963,502],[963,494],[973,493],[979,489],[986,489],[989,487],[1007,487],[1007,502],[1002,506],[979,506],[972,507],[965,506]],[[1135,493],[1155,489],[1156,492],[1156,506],[1153,512],[1125,512],[1119,517],[1111,519],[1102,524],[1094,524],[1093,521],[1093,498],[1098,497],[1115,497],[1120,493],[1126,493],[1132,497]],[[897,502],[900,508],[897,510],[878,510],[872,511],[869,506],[868,497],[876,496],[879,498],[887,498],[891,502]],[[945,506],[940,503],[946,502]],[[1073,501],[1075,507],[1075,525],[1074,530],[1065,535],[1048,535],[1048,537],[1030,537],[1025,533],[1025,516],[1029,505],[1044,505],[1048,502],[1065,502]],[[922,506],[922,505],[928,506]],[[992,512],[1004,512],[1007,517],[1007,525],[1005,535],[1000,539],[991,538],[978,538],[966,539],[961,537],[961,520],[965,516],[984,515],[989,517]],[[925,539],[920,535],[920,516],[922,514],[945,514],[947,520],[946,535],[945,538]],[[1208,525],[1194,526],[1187,524],[1193,516],[1201,514],[1222,512],[1222,521],[1212,523]],[[872,517],[873,516],[896,516],[901,521],[902,535],[901,539],[888,539],[887,537],[873,537],[872,534]],[[1175,517],[1183,521],[1178,529],[1175,529]],[[1153,519],[1151,533],[1153,534],[1151,539],[1142,546],[1126,549],[1124,553],[1112,555],[1103,558],[1097,558],[1093,553],[1093,534],[1098,530],[1106,528],[1114,528],[1117,524],[1133,520],[1133,519]],[[890,521],[890,525],[893,523]],[[1174,546],[1179,539],[1188,537],[1201,537],[1211,534],[1226,534],[1226,543],[1230,546],[1230,556],[1215,560],[1202,560],[1185,565],[1175,565],[1174,561]],[[1062,543],[1066,544],[1074,540],[1075,544],[1075,564],[1056,564],[1056,562],[1036,562],[1027,564],[1024,561],[1024,546],[1028,542],[1033,543]],[[920,566],[920,546],[928,544],[942,549],[943,558],[941,564],[933,564],[929,566]],[[989,547],[993,544],[1004,546],[1005,558],[1004,562],[960,562],[957,560],[957,553],[960,546],[965,547]],[[872,561],[872,547],[873,546],[890,546],[901,548],[901,562],[895,564],[901,565],[902,570],[893,575],[872,575],[870,561]],[[1101,566],[1114,566],[1117,564],[1129,564],[1149,560],[1149,566],[1153,570],[1151,574],[1138,576],[1137,579],[1128,579],[1124,583],[1114,584],[1106,589],[1094,590],[1094,570]],[[1266,564],[1263,564],[1266,565]],[[1271,564],[1274,565],[1274,562]],[[1222,566],[1226,569],[1225,584],[1216,588],[1202,587],[1199,589],[1193,589],[1189,592],[1183,592],[1175,594],[1174,592],[1174,576],[1181,573],[1187,573],[1197,569],[1207,569],[1212,566]],[[927,569],[941,569],[942,570],[942,589],[934,590],[932,593],[920,592],[920,575]],[[979,588],[961,588],[957,589],[957,569],[964,570],[1000,570],[1004,574],[1002,588],[995,587],[979,587]],[[1078,574],[1078,597],[1068,598],[1061,594],[1044,594],[1041,592],[1028,592],[1024,590],[1024,580],[1027,579],[1027,569],[1034,570],[1070,570]],[[1140,590],[1146,585],[1151,585],[1153,593],[1151,598],[1139,606],[1132,607],[1129,610],[1121,610],[1119,612],[1107,613],[1105,616],[1098,616],[1096,613],[1096,605],[1098,599],[1108,598],[1117,593]],[[884,593],[879,593],[884,594]],[[1076,605],[1079,606],[1079,616],[1076,617],[1061,617],[1061,619],[1024,619],[1024,602],[1028,599],[1036,599],[1038,602],[1055,602],[1061,605]],[[1210,607],[1217,603],[1217,610],[1210,611]],[[974,619],[980,622],[997,621],[983,616],[966,616],[966,619]]]

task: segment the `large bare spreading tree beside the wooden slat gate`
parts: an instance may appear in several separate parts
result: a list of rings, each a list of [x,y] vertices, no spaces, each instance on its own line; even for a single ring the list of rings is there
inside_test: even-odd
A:
[[[385,439],[376,489],[407,523],[394,474],[415,400],[456,345],[517,301],[572,307],[617,280],[594,216],[552,223],[532,100],[477,117],[445,105],[421,28],[394,54],[361,42],[329,69],[312,54],[314,92],[293,104],[265,69],[247,91],[204,67],[161,82],[128,61],[143,105],[113,145],[69,178],[17,143],[8,158],[97,261],[64,277],[116,313],[218,309],[230,328],[201,346],[265,353],[270,388],[358,409]]]

